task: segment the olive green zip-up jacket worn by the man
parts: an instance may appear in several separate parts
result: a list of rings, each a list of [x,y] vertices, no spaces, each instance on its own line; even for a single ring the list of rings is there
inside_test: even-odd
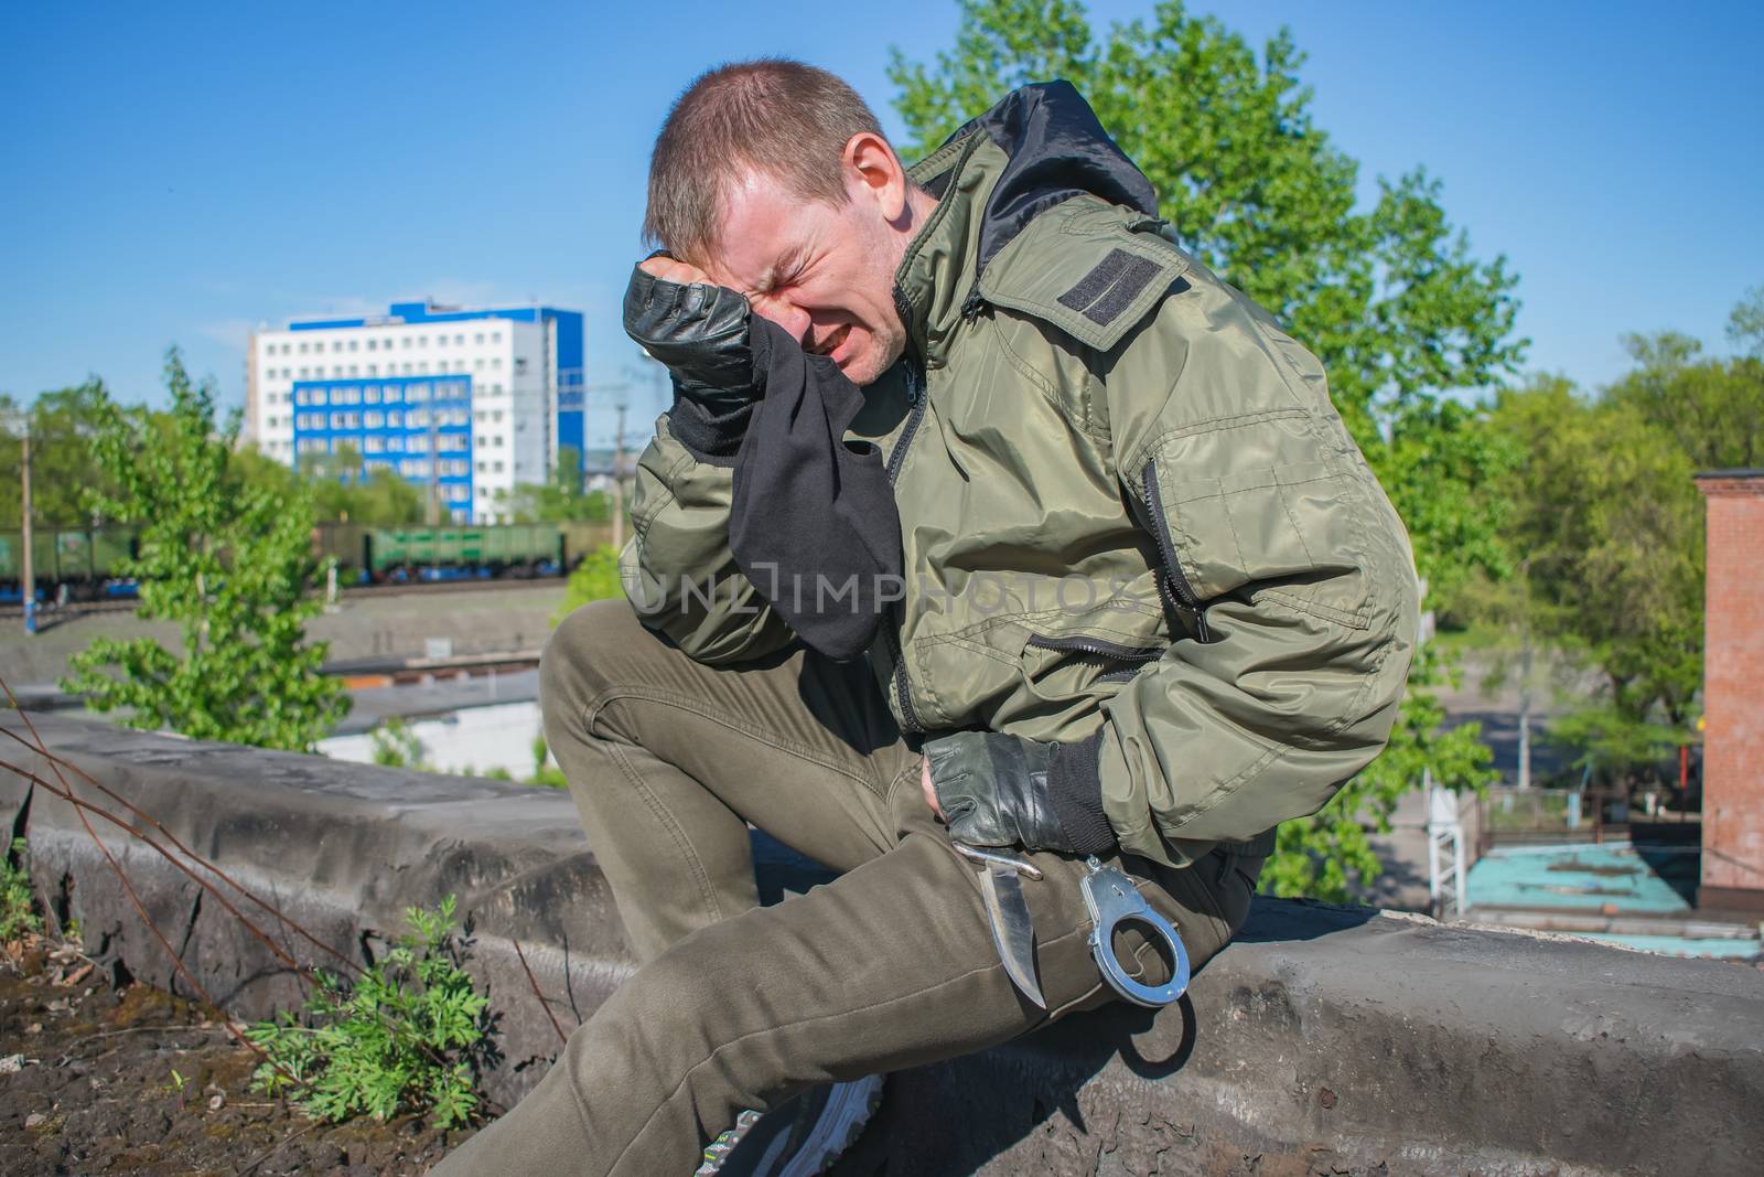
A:
[[[1122,847],[1267,845],[1383,748],[1416,633],[1408,535],[1323,369],[1155,217],[1074,194],[975,281],[1011,155],[977,129],[896,274],[887,457],[905,591],[870,651],[903,731],[1095,746]],[[624,588],[690,655],[792,641],[729,551],[732,473],[656,424]],[[811,591],[811,589],[810,589]]]

